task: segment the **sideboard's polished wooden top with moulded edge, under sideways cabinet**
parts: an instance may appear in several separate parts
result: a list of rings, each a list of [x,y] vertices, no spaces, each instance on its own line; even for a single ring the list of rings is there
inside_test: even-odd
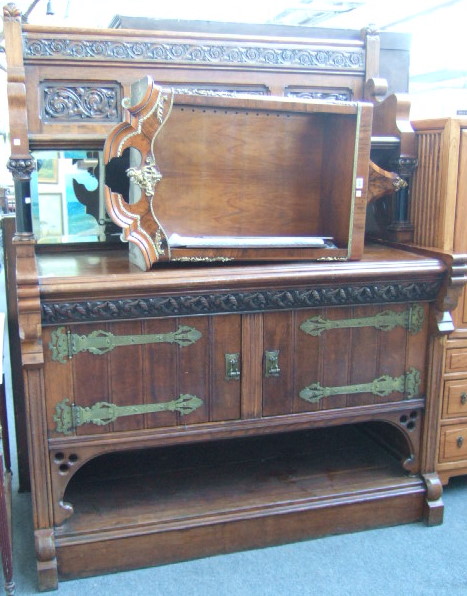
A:
[[[156,266],[151,271],[141,271],[132,265],[124,249],[93,254],[84,251],[42,254],[37,261],[40,292],[44,299],[335,284],[337,280],[407,280],[437,277],[446,271],[441,259],[383,245],[367,246],[360,261],[170,264]]]

